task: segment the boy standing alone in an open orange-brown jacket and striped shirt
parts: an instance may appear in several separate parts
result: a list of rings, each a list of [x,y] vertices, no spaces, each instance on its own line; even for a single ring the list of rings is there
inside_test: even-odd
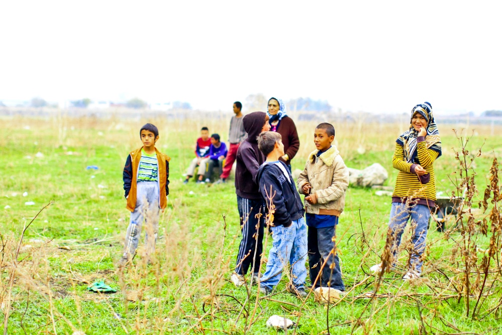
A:
[[[147,255],[155,251],[159,208],[164,211],[167,206],[171,158],[155,148],[155,142],[159,140],[159,130],[154,125],[143,126],[140,130],[140,138],[143,147],[129,154],[123,171],[127,209],[131,211],[131,220],[126,233],[123,254],[117,264],[118,268],[123,268],[136,255],[144,219],[148,225],[152,225],[154,233],[152,240],[147,230]]]

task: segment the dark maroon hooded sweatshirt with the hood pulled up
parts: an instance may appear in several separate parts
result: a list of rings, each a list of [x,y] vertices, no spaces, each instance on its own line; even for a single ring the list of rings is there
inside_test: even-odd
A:
[[[267,114],[263,111],[254,111],[242,118],[247,138],[239,145],[235,159],[235,193],[242,198],[262,198],[255,179],[260,165],[265,162],[265,156],[258,149],[258,135],[265,126],[266,116]]]

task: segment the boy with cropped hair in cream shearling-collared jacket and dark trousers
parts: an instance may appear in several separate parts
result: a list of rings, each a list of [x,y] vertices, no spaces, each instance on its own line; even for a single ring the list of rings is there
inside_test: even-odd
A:
[[[338,217],[345,205],[348,169],[336,147],[331,145],[334,138],[332,125],[322,123],[316,127],[314,144],[317,150],[310,153],[305,170],[298,177],[298,190],[306,195],[305,218],[312,286],[330,287],[342,293],[345,286],[334,237]],[[326,264],[319,274],[324,262]]]

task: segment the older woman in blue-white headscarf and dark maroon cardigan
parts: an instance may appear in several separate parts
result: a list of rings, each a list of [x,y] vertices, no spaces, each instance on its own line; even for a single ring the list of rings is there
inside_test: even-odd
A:
[[[293,119],[286,115],[286,105],[281,99],[270,98],[267,110],[271,127],[270,131],[277,132],[282,136],[285,155],[280,160],[286,163],[291,172],[291,160],[295,157],[298,149],[300,149],[300,139],[296,132],[295,123]]]

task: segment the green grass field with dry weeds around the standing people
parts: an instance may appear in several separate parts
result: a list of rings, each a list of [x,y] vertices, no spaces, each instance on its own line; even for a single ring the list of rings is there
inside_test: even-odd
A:
[[[329,310],[313,296],[302,302],[286,293],[287,276],[269,298],[257,300],[256,287],[233,287],[229,278],[240,237],[233,179],[222,185],[182,183],[198,130],[208,126],[211,133],[220,133],[226,140],[228,120],[122,121],[60,116],[1,121],[0,321],[5,324],[8,315],[6,333],[275,334],[276,330],[265,325],[274,314],[298,322],[288,333],[502,332],[502,311],[497,308],[502,302],[499,266],[495,266],[498,271],[489,273],[489,290],[483,293],[474,317],[467,316],[467,307],[472,310],[476,299],[467,305],[465,295],[460,297],[462,294],[452,287],[453,278],[463,271],[455,247],[461,234],[455,231],[445,237],[430,230],[422,279],[401,280],[407,262],[406,252],[402,252],[398,271],[384,276],[376,298],[361,297],[375,288],[377,278],[366,273],[368,267],[380,262],[391,206],[389,196],[376,196],[372,189],[350,187],[347,191],[337,243],[349,293]],[[141,146],[138,133],[146,122],[159,127],[157,147],[172,158],[169,204],[161,214],[153,264],[136,257],[136,266],[119,276],[114,263],[129,220],[122,169],[128,153]],[[364,168],[378,162],[389,171],[386,185],[393,186],[397,173],[391,158],[403,125],[333,123],[347,166]],[[303,169],[314,149],[311,133],[315,124],[302,122],[297,127],[301,148],[293,169]],[[459,142],[448,127],[440,125],[440,131],[443,156],[435,163],[437,191],[451,194],[456,188],[450,178],[460,178],[459,172],[452,174],[458,171],[452,148],[458,150]],[[485,142],[482,155],[474,161],[479,188],[476,200],[482,199],[489,183],[493,158],[502,152],[500,129],[495,136],[483,135],[489,133],[482,127],[462,133],[473,134],[467,148],[474,155]],[[98,170],[87,170],[91,165]],[[23,227],[51,200],[55,202],[26,231],[16,257]],[[28,201],[35,204],[26,205]],[[486,216],[481,210],[475,215]],[[472,256],[480,264],[489,239],[477,233],[474,236],[480,251]],[[269,237],[265,255],[271,245]],[[97,279],[104,279],[117,293],[89,292],[89,283]],[[476,287],[466,295],[476,297]]]

